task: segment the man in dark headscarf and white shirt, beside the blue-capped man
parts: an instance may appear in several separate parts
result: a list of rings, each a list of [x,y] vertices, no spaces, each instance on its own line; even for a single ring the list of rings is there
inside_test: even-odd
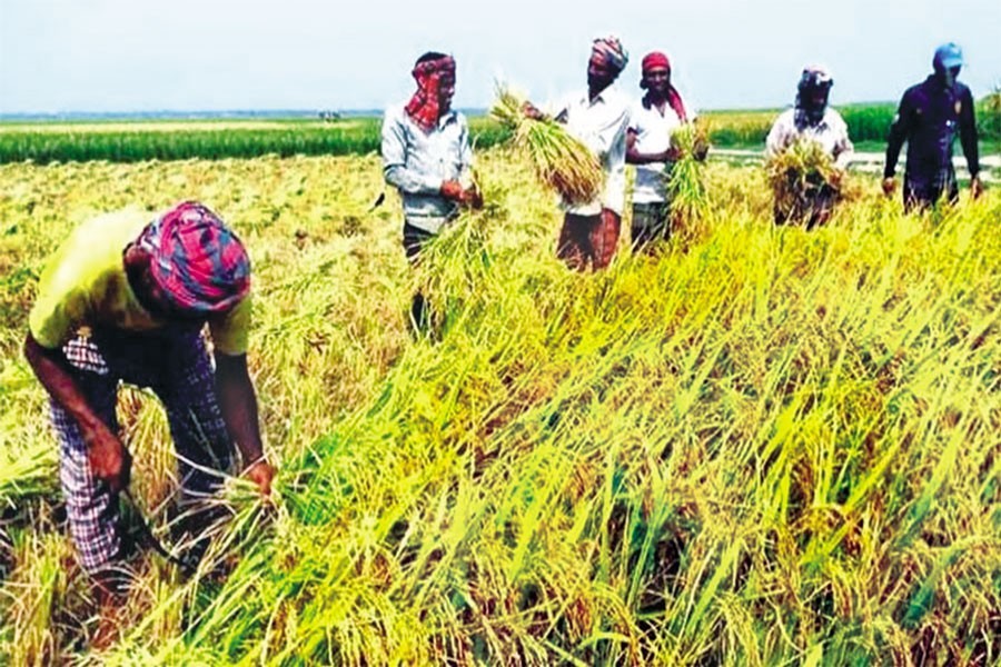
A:
[[[827,107],[834,79],[826,68],[812,64],[803,68],[796,87],[796,103],[775,120],[765,140],[765,158],[774,158],[799,141],[819,143],[834,160],[833,179],[807,183],[807,190],[796,192],[795,201],[775,201],[775,222],[805,221],[810,229],[823,225],[834,211],[839,185],[855,148],[849,139],[848,126],[841,115]]]

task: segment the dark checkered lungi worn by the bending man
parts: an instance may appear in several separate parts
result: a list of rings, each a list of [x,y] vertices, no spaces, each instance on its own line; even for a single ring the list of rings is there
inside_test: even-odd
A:
[[[119,382],[149,387],[160,398],[179,457],[182,502],[197,502],[218,488],[220,477],[212,471],[229,470],[232,441],[216,399],[215,374],[200,331],[95,331],[67,342],[63,352],[75,369],[77,386],[112,431],[118,430]],[[54,400],[50,408],[60,445],[59,480],[70,532],[83,569],[100,573],[122,551],[118,496],[91,474],[76,419]]]

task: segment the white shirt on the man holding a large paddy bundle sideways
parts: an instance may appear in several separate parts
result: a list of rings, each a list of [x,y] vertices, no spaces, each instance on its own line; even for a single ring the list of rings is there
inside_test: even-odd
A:
[[[625,206],[625,135],[630,125],[630,103],[609,86],[594,100],[585,88],[567,96],[555,108],[554,117],[566,122],[567,131],[597,155],[605,172],[605,188],[596,201],[564,210],[578,216],[599,213],[609,208],[620,216]]]

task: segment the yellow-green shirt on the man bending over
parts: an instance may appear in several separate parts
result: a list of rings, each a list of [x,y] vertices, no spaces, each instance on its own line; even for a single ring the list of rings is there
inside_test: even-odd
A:
[[[28,328],[39,345],[61,347],[83,326],[126,331],[165,326],[142,308],[122,262],[126,246],[136,240],[150,218],[147,211],[118,211],[88,220],[70,233],[49,258],[38,283],[38,300],[28,317]],[[208,319],[217,351],[247,352],[251,309],[248,296],[229,311]]]

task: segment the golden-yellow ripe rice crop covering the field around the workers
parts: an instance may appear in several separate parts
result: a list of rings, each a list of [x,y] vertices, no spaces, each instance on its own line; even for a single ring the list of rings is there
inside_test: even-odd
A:
[[[280,469],[271,502],[227,482],[204,576],[138,556],[103,653],[65,529],[4,526],[0,664],[998,663],[999,192],[933,230],[873,198],[771,233],[764,171],[714,163],[727,223],[582,277],[527,163],[478,158],[494,208],[416,269],[398,210],[364,212],[373,156],[0,166],[0,255],[30,267],[66,211],[221,202]],[[437,340],[408,338],[422,278]],[[0,449],[54,447],[10,321]]]

